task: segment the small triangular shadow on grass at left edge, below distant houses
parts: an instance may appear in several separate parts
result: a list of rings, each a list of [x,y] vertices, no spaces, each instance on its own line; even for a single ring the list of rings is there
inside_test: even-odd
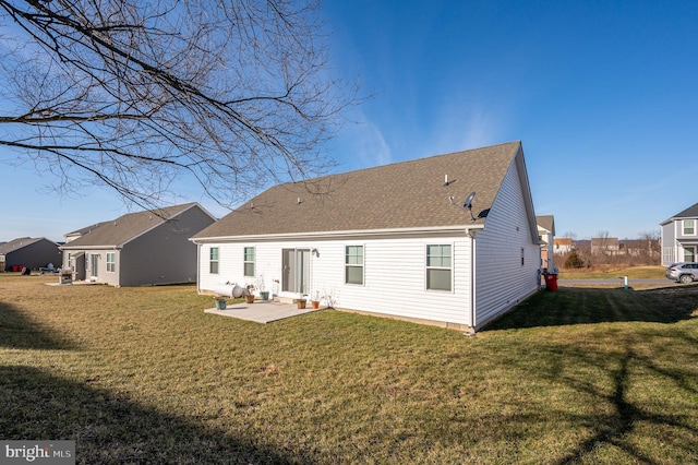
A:
[[[44,350],[77,348],[63,334],[46,327],[16,307],[2,301],[0,301],[0,347]]]

